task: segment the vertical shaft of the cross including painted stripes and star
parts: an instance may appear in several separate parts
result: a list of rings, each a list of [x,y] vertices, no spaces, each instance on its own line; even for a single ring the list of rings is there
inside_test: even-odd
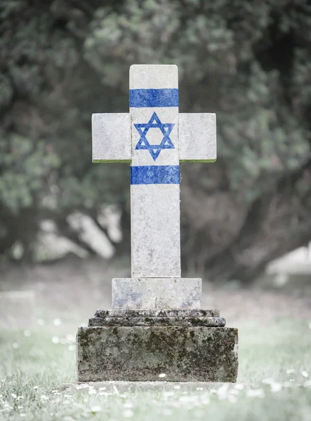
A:
[[[176,66],[131,66],[130,115],[132,277],[180,277]]]

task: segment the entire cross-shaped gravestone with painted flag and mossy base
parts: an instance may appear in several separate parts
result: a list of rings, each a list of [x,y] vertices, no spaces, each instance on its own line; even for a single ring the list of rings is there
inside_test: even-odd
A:
[[[216,161],[216,115],[178,114],[174,65],[130,68],[130,112],[93,114],[93,162],[131,164],[131,278],[77,333],[79,381],[237,379],[237,329],[180,273],[180,161]],[[160,377],[159,377],[160,376]]]

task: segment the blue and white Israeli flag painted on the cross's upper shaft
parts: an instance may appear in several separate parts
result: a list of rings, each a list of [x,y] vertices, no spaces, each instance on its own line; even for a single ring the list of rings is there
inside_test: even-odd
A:
[[[133,148],[131,182],[152,184],[154,173],[154,184],[159,182],[159,178],[167,184],[178,184],[177,66],[148,66],[148,69],[140,65],[131,66],[130,112]],[[163,168],[156,169],[155,166]]]

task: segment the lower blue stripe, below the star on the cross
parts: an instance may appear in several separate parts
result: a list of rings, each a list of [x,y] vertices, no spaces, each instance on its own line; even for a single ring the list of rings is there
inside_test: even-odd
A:
[[[179,165],[131,166],[131,185],[179,184]]]

